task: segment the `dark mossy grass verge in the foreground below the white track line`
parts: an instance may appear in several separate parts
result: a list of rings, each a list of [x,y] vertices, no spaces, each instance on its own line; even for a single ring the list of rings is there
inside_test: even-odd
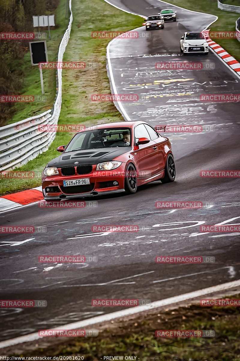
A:
[[[239,299],[239,296],[224,298]],[[156,330],[214,330],[215,337],[157,338]],[[65,360],[69,360],[67,356],[70,355],[78,356],[76,360],[83,356],[85,361],[104,360],[104,356],[123,356],[123,360],[125,356],[134,356],[136,358],[132,360],[141,361],[230,361],[239,360],[239,335],[239,307],[191,305],[147,316],[140,314],[137,319],[130,321],[111,321],[111,327],[96,337],[65,338],[59,341],[52,339],[49,341],[51,345],[42,340],[39,345],[32,343],[28,350],[22,345],[21,353],[15,354],[25,357],[62,356],[62,360],[64,356]],[[8,354],[10,352],[9,349]]]

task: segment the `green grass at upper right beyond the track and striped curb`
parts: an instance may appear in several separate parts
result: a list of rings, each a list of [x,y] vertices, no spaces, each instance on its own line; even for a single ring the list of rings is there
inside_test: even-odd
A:
[[[240,1],[236,0],[234,3],[228,0],[231,5],[239,5]],[[218,16],[218,20],[210,25],[211,31],[235,31],[236,20],[239,18],[239,13],[225,11],[218,9],[217,0],[169,0],[173,5],[184,7],[189,10],[199,11],[202,13],[209,13]],[[237,39],[216,39],[212,38],[216,43],[221,45],[230,55],[240,61],[240,43]]]

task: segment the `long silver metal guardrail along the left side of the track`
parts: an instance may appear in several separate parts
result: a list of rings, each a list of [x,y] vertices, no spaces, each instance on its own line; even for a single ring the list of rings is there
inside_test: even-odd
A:
[[[70,17],[58,49],[58,61],[63,60],[72,27],[72,0],[69,0]],[[45,152],[53,142],[56,132],[38,130],[38,125],[54,125],[58,123],[62,107],[62,69],[57,69],[56,100],[51,109],[35,117],[23,119],[17,123],[0,127],[0,171],[14,169],[26,164]],[[52,112],[52,114],[51,114]],[[51,127],[48,127],[51,129]]]

